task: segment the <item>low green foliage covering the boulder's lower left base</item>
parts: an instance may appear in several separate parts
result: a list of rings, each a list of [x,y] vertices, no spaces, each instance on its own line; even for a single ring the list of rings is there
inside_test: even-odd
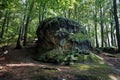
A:
[[[61,48],[47,50],[47,51],[46,49],[40,49],[39,52],[40,53],[37,53],[37,55],[34,58],[43,62],[52,62],[56,64],[61,64],[65,58],[65,55],[63,54]]]

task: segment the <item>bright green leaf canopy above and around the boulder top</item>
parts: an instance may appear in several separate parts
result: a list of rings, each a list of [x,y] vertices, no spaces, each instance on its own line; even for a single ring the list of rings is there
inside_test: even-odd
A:
[[[28,15],[31,2],[32,0],[0,0],[0,26],[2,26],[3,23],[5,10],[10,12],[7,17],[10,30],[12,27],[18,29],[20,24],[25,26],[26,19],[23,19],[23,17],[25,16],[26,18]],[[38,26],[39,22],[48,17],[66,17],[81,22],[82,25],[90,27],[91,32],[88,35],[92,38],[92,41],[94,39],[94,20],[97,21],[97,24],[102,20],[106,26],[109,26],[110,22],[113,22],[113,20],[110,19],[112,16],[110,15],[112,11],[111,0],[34,0],[34,3],[33,11],[30,13],[30,25],[28,31],[30,37],[35,36],[36,26]],[[103,9],[103,18],[100,17],[100,8]],[[97,16],[95,16],[96,12]],[[98,28],[100,27],[100,25],[97,26]],[[110,29],[110,27],[108,28]],[[18,32],[18,30],[15,29],[13,32]],[[100,29],[98,29],[98,36],[100,36]]]

